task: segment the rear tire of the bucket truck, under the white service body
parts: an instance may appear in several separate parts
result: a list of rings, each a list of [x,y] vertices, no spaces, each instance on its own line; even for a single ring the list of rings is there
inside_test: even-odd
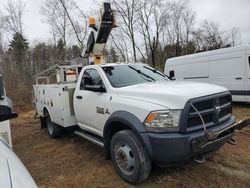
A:
[[[45,114],[45,124],[50,138],[59,138],[62,134],[62,127],[51,121],[49,113]]]

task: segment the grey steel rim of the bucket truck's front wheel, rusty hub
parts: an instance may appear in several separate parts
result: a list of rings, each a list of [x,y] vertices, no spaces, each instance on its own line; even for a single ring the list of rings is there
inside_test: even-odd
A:
[[[115,160],[120,170],[131,175],[135,170],[135,155],[127,143],[119,142],[115,145]]]

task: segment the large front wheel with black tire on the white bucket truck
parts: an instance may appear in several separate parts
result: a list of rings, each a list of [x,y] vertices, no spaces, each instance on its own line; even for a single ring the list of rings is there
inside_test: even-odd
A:
[[[131,130],[117,132],[110,145],[113,165],[119,176],[139,184],[151,173],[151,159],[138,136]]]

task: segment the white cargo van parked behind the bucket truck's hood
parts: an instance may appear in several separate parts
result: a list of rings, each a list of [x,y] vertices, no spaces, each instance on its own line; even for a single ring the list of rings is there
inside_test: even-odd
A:
[[[250,102],[250,46],[171,58],[165,63],[164,73],[176,80],[224,86],[233,101]]]

